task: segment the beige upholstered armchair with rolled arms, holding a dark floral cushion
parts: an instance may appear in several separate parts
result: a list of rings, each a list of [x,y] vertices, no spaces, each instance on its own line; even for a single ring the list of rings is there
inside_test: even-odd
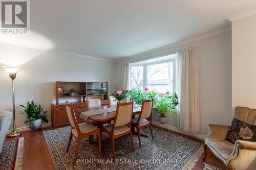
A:
[[[236,107],[235,118],[253,125],[256,109]],[[210,132],[204,137],[204,158],[207,157],[207,147],[225,163],[227,169],[256,169],[256,142],[237,140],[235,144],[225,140],[229,126],[210,124]]]

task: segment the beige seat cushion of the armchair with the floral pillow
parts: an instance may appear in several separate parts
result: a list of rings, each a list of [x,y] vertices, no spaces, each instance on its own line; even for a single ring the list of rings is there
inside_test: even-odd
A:
[[[216,139],[214,137],[207,137],[205,139],[206,145],[212,153],[214,153],[224,163],[227,161],[229,155],[234,149],[234,144],[225,139]]]

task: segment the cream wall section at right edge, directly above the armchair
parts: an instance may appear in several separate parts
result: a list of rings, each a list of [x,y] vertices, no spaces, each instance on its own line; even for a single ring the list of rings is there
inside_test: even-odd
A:
[[[232,109],[256,108],[256,15],[232,21]]]

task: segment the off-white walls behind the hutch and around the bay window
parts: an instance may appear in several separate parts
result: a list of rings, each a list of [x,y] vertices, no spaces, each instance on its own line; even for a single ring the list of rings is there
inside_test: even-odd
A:
[[[138,55],[124,61],[130,62],[147,57],[156,57],[176,52],[191,45],[198,46],[202,134],[207,134],[209,123],[230,125],[231,122],[230,31],[164,50]],[[14,58],[16,57],[15,60],[9,57],[12,55]],[[5,65],[8,60],[13,63],[26,61],[21,65],[22,69],[17,73],[15,79],[17,128],[26,126],[24,124],[26,115],[19,114],[23,111],[19,104],[26,104],[27,100],[40,103],[45,110],[51,113],[51,103],[55,102],[55,81],[106,81],[109,82],[109,94],[114,89],[122,87],[123,61],[101,61],[0,44],[1,65]],[[12,110],[11,80],[2,68],[0,68],[0,100],[1,110]],[[158,121],[157,117],[158,115],[154,113],[153,120]],[[167,122],[170,126],[176,127],[176,113],[169,117]]]

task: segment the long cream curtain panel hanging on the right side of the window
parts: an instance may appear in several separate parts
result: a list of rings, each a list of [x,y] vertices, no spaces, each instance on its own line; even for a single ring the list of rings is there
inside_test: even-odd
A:
[[[185,132],[200,133],[199,62],[197,47],[178,51],[177,92],[179,96],[178,125]]]

